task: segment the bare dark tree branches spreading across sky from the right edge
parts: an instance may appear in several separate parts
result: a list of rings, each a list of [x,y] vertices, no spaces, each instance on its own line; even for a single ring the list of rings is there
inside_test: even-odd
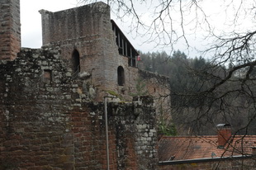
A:
[[[84,4],[97,0],[78,2]],[[174,49],[177,43],[182,42],[187,45],[187,50],[192,50],[194,41],[191,37],[202,40],[201,47],[204,49],[200,52],[211,60],[211,68],[192,70],[193,75],[205,78],[200,82],[201,91],[176,94],[186,100],[173,108],[173,111],[179,110],[179,114],[181,108],[183,112],[193,113],[190,115],[192,117],[187,117],[187,124],[194,122],[192,125],[196,132],[202,125],[232,125],[232,121],[238,122],[235,119],[241,120],[241,117],[246,118],[244,122],[239,122],[235,134],[248,135],[256,129],[256,1],[106,2],[117,18],[130,22],[130,31],[135,32],[136,36],[146,37],[145,42],[154,43],[158,48],[168,46]],[[200,105],[189,106],[188,103],[193,101]]]

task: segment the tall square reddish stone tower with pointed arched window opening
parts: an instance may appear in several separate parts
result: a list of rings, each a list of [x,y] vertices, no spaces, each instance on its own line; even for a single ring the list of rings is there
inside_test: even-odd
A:
[[[60,12],[41,10],[40,14],[43,46],[60,47],[63,59],[71,60],[74,79],[79,73],[89,75],[98,101],[106,92],[119,93],[119,88],[128,87],[130,81],[135,82],[134,78],[131,80],[126,76],[126,83],[118,85],[119,66],[126,75],[129,71],[137,71],[137,68],[129,68],[128,71],[128,61],[124,62],[127,59],[118,53],[107,4],[97,2]]]

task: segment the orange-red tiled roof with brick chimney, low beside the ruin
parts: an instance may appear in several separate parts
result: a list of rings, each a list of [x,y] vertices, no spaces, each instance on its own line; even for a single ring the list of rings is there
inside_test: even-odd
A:
[[[254,147],[256,135],[232,136],[229,144],[222,149],[218,147],[216,135],[164,136],[159,140],[159,162],[251,155]]]

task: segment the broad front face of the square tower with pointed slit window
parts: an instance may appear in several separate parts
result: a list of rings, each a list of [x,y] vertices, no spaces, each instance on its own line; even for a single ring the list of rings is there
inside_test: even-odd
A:
[[[98,2],[60,12],[41,10],[43,45],[59,46],[62,59],[72,58],[78,50],[81,72],[92,75],[91,83],[97,94],[107,84],[105,59],[112,52],[110,12],[105,3]],[[110,37],[111,36],[111,37]],[[71,62],[69,62],[71,64]],[[104,71],[106,70],[106,71]],[[102,100],[101,95],[100,98]]]

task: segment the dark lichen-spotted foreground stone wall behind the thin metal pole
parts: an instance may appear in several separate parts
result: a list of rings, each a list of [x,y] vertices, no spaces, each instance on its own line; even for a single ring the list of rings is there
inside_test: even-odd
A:
[[[61,50],[0,64],[0,169],[107,169],[104,105]],[[111,169],[157,166],[153,101],[108,102]]]

